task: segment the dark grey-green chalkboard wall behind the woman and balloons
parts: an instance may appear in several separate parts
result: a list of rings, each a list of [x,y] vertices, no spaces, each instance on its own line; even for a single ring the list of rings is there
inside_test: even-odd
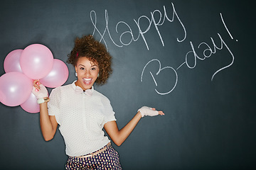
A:
[[[0,75],[12,50],[39,43],[66,63],[92,34],[113,58],[95,89],[119,128],[141,106],[165,113],[113,144],[124,169],[255,169],[255,14],[250,1],[1,1]],[[59,131],[45,142],[38,113],[0,110],[0,169],[64,169]]]

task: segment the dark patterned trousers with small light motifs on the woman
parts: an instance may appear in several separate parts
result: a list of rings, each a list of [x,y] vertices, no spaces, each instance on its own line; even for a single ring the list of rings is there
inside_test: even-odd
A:
[[[122,169],[119,163],[119,155],[112,146],[107,150],[95,155],[94,157],[78,158],[68,157],[68,162],[65,164],[65,169]]]

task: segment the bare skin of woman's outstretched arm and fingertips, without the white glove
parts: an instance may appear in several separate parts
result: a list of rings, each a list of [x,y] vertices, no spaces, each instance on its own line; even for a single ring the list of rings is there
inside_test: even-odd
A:
[[[152,108],[155,111],[155,108]],[[162,111],[158,112],[159,115],[164,115]],[[115,121],[110,121],[105,123],[104,128],[107,134],[110,136],[111,140],[117,145],[120,146],[127,139],[127,137],[131,134],[132,130],[136,127],[139,120],[142,118],[142,114],[138,112],[132,120],[127,123],[121,130],[118,129],[117,123]]]

